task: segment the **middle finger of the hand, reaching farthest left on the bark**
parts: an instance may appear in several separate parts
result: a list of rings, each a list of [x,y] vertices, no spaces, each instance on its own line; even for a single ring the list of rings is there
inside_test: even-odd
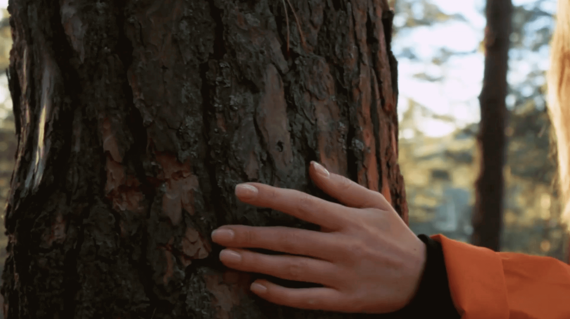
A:
[[[337,234],[283,226],[227,225],[213,231],[212,240],[226,247],[263,248],[330,261],[338,255],[342,239]]]

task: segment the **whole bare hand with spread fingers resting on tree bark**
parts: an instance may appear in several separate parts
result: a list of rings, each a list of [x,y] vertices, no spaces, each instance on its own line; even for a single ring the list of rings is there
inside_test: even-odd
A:
[[[245,203],[269,207],[321,231],[290,227],[225,225],[212,240],[225,247],[227,267],[282,279],[322,284],[286,288],[256,280],[251,290],[275,304],[333,312],[388,313],[412,300],[425,265],[425,244],[406,226],[382,194],[312,162],[315,184],[346,206],[291,189],[260,183],[238,185]],[[264,248],[294,255],[265,255],[243,248]],[[304,257],[307,256],[307,257]]]

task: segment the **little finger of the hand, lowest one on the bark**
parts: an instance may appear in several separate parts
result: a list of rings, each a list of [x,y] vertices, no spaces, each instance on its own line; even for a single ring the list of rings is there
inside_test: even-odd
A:
[[[257,284],[266,287],[257,289]],[[259,297],[274,304],[290,306],[292,308],[323,310],[333,312],[347,312],[350,305],[343,295],[333,288],[286,288],[267,280],[256,280],[251,284],[251,291]]]

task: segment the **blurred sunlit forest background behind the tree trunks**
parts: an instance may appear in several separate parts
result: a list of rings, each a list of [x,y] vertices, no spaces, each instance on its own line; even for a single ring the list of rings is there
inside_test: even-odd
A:
[[[556,165],[544,100],[555,0],[513,0],[501,251],[568,261]],[[410,227],[469,242],[479,157],[476,138],[484,67],[483,0],[391,0],[398,60],[400,166]],[[7,0],[0,0],[0,69],[9,64]],[[10,92],[0,75],[0,217],[14,165]],[[7,239],[0,224],[0,262]],[[1,315],[0,315],[1,316]]]

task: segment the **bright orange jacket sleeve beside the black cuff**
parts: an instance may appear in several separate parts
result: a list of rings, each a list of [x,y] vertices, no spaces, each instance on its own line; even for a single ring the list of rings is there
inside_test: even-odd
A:
[[[494,252],[443,235],[451,298],[462,319],[570,319],[570,265]]]

